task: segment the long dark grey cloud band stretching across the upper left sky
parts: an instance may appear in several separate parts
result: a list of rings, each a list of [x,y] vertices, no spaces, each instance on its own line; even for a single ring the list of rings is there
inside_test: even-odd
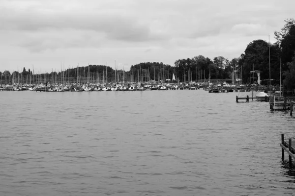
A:
[[[106,14],[68,14],[54,15],[34,13],[12,13],[1,21],[1,30],[48,31],[60,29],[93,30],[105,33],[110,39],[125,41],[145,41],[156,39],[147,25],[136,19]]]

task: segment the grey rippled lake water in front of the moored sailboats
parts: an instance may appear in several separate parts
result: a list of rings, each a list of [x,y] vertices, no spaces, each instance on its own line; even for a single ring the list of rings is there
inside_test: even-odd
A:
[[[295,194],[295,118],[238,94],[0,92],[0,196]]]

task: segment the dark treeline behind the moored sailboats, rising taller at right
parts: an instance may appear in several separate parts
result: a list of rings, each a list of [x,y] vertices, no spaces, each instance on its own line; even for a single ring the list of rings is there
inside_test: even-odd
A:
[[[127,71],[104,65],[69,67],[51,73],[35,73],[33,70],[28,69],[27,71],[26,68],[22,68],[22,72],[10,73],[7,70],[0,72],[0,79],[1,83],[123,80],[144,82],[166,81],[175,75],[176,80],[180,82],[204,81],[210,78],[252,83],[257,80],[257,74],[250,74],[251,71],[259,71],[262,80],[272,79],[275,82],[279,81],[281,70],[284,86],[295,88],[295,20],[287,19],[282,29],[275,31],[274,35],[276,43],[270,44],[265,40],[254,40],[246,46],[244,53],[230,60],[223,56],[210,59],[203,55],[196,55],[186,59],[177,59],[173,66],[162,62],[145,62],[132,65]]]

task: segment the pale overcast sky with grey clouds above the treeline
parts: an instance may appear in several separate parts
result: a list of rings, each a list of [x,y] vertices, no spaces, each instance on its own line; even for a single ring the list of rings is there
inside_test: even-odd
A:
[[[0,0],[0,71],[60,71],[88,64],[204,55],[231,60],[247,44],[275,42],[295,0]]]

